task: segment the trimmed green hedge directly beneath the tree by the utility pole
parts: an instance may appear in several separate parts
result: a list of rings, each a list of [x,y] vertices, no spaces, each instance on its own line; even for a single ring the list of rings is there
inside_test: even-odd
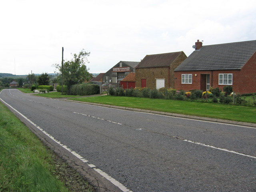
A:
[[[68,90],[70,95],[96,95],[100,94],[100,86],[91,83],[76,84]]]

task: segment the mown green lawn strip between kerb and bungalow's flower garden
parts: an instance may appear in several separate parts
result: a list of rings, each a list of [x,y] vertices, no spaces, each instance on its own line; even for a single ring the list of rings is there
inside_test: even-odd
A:
[[[70,100],[256,123],[256,108],[246,106],[108,95]]]

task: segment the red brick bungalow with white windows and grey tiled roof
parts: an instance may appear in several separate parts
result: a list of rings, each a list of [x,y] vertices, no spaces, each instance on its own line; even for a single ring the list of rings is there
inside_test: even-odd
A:
[[[256,40],[202,46],[199,40],[175,70],[175,89],[209,90],[230,85],[240,94],[256,92]]]

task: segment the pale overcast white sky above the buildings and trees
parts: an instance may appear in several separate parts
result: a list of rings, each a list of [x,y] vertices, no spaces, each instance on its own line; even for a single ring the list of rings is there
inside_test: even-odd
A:
[[[0,0],[0,73],[53,73],[90,52],[91,73],[120,60],[256,40],[255,0]]]

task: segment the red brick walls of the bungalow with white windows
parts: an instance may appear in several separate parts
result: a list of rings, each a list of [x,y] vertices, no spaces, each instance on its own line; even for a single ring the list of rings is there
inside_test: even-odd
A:
[[[201,83],[201,74],[210,74],[210,86],[213,88],[220,88],[223,90],[223,87],[226,85],[219,85],[219,74],[220,73],[232,73],[233,82],[232,87],[234,92],[240,94],[254,93],[256,92],[256,53],[246,62],[244,67],[241,70],[216,70],[216,71],[176,71],[174,72],[175,85],[174,88],[177,90],[191,90],[199,89]],[[182,84],[181,76],[182,74],[192,74],[192,84]],[[197,76],[195,76],[197,75]]]

